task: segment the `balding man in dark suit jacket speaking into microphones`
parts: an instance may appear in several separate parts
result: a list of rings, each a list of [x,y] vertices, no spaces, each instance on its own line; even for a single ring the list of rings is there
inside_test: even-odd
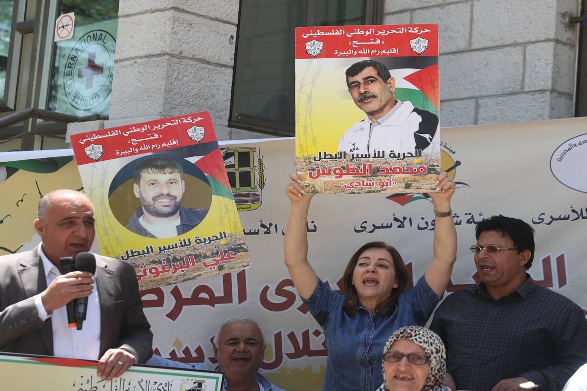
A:
[[[100,360],[111,380],[152,354],[133,267],[96,255],[96,273],[59,271],[62,257],[89,251],[94,209],[83,193],[52,191],[39,201],[33,223],[42,243],[0,257],[0,351]],[[68,327],[66,304],[87,297],[83,328]]]

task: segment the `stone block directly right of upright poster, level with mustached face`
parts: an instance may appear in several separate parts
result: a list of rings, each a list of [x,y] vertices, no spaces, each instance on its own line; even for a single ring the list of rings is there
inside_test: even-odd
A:
[[[450,100],[518,92],[523,63],[522,46],[441,55],[440,96]]]

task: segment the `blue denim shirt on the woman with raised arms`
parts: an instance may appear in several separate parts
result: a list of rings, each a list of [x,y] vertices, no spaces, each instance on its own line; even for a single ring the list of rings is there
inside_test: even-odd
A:
[[[328,347],[323,390],[373,391],[383,383],[385,342],[396,329],[424,325],[441,297],[424,277],[402,293],[392,315],[382,317],[359,305],[355,315],[343,311],[346,298],[318,281],[308,300],[312,316],[321,325]]]

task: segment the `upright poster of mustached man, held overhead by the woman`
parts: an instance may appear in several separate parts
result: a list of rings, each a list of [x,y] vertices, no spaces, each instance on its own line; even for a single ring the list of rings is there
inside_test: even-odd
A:
[[[437,25],[295,31],[296,172],[311,193],[424,193],[440,174]]]

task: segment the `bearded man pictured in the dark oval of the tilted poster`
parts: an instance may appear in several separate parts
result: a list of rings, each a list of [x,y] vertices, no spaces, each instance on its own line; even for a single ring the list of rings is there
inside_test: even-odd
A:
[[[174,237],[188,232],[204,220],[208,209],[181,206],[185,191],[183,168],[171,158],[146,158],[134,168],[134,196],[141,208],[130,216],[126,226],[146,237]]]

